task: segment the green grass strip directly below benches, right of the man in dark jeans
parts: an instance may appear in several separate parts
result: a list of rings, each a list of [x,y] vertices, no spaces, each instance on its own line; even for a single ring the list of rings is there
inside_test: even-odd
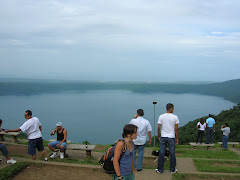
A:
[[[233,159],[240,160],[240,156],[232,151],[207,151],[207,150],[176,150],[178,157],[184,158],[207,158],[207,159]]]

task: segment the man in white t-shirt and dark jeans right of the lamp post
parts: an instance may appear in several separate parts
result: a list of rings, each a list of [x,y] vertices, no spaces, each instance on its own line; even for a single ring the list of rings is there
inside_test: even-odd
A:
[[[158,167],[155,169],[157,173],[163,173],[164,155],[166,146],[168,144],[170,155],[170,173],[176,173],[176,156],[175,156],[175,143],[178,144],[178,124],[179,120],[173,114],[174,105],[168,103],[166,106],[167,112],[159,116],[158,119],[158,138],[160,141],[160,153],[158,157]],[[162,129],[161,129],[162,128]]]

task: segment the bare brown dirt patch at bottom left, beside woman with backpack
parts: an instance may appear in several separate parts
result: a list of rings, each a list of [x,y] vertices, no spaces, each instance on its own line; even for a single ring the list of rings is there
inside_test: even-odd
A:
[[[54,166],[30,165],[25,170],[20,172],[13,180],[43,180],[43,179],[87,179],[87,180],[111,180],[112,176],[106,174],[101,169],[69,167],[69,166]]]

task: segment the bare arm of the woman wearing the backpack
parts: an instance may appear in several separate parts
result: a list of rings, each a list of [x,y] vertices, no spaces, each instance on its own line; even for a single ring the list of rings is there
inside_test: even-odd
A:
[[[124,145],[124,143],[122,141],[119,141],[117,143],[115,151],[114,151],[113,166],[114,166],[115,173],[116,173],[118,179],[122,179],[121,172],[120,172],[119,159],[120,159],[120,155],[122,153],[123,145]]]

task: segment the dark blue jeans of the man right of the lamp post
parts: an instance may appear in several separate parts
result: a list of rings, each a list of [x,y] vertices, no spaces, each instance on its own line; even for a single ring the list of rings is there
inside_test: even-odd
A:
[[[158,157],[158,170],[163,172],[165,151],[168,144],[169,155],[170,155],[170,172],[175,171],[176,167],[176,156],[175,156],[175,138],[161,137],[160,140],[160,153]]]

